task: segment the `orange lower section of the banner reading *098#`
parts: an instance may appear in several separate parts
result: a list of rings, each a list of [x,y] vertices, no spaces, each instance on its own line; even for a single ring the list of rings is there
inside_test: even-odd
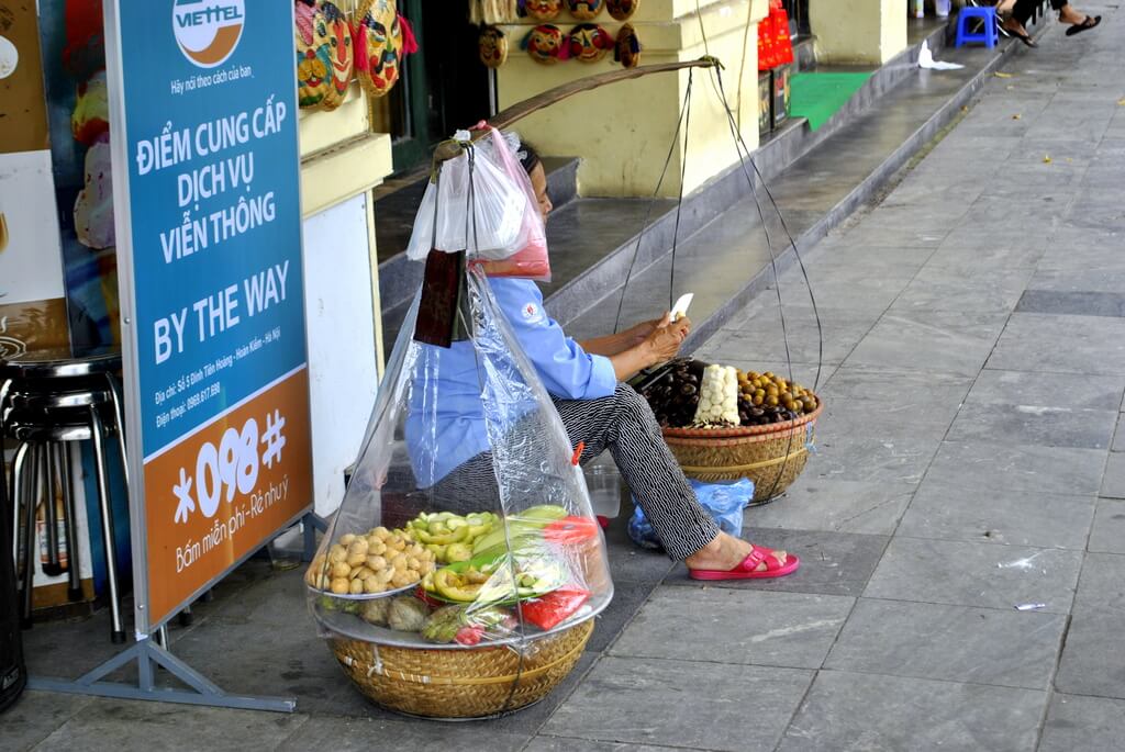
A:
[[[150,624],[312,504],[310,457],[302,368],[145,463]]]

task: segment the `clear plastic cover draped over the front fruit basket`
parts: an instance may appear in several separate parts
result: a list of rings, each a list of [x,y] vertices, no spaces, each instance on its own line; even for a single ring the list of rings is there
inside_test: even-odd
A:
[[[420,291],[306,572],[327,637],[534,651],[613,596],[575,447],[487,278],[464,269],[464,338],[415,339]]]

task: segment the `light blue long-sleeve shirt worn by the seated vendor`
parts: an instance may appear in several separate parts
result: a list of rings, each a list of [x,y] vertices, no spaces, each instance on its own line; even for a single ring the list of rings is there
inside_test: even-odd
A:
[[[562,399],[609,397],[616,387],[613,363],[592,355],[543,310],[531,280],[488,281],[516,341],[547,391]],[[472,343],[423,346],[411,395],[406,443],[418,486],[428,488],[489,449],[482,402],[482,374]],[[417,378],[421,373],[435,377]]]

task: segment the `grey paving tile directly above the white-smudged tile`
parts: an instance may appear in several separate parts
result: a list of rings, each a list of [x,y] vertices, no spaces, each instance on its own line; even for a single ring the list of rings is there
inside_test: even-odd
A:
[[[982,491],[927,479],[902,517],[898,534],[1081,551],[1094,506],[1092,496]]]

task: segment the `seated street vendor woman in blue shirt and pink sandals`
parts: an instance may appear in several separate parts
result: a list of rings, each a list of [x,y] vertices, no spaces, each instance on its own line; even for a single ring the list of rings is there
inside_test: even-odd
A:
[[[546,221],[551,211],[547,176],[534,150],[516,153],[531,178]],[[622,381],[664,363],[680,351],[691,329],[687,318],[644,321],[620,334],[584,342],[568,337],[543,309],[543,296],[526,279],[493,278],[489,287],[531,364],[551,396],[570,443],[584,445],[585,464],[609,451],[664,543],[700,580],[756,579],[789,574],[800,560],[723,533],[696,500],[691,484],[668,451],[648,402]],[[438,393],[446,417],[435,437],[442,447],[423,463],[420,484],[435,497],[480,499],[496,493],[496,477],[480,402],[477,365],[471,351],[459,351],[464,363],[442,362]]]

